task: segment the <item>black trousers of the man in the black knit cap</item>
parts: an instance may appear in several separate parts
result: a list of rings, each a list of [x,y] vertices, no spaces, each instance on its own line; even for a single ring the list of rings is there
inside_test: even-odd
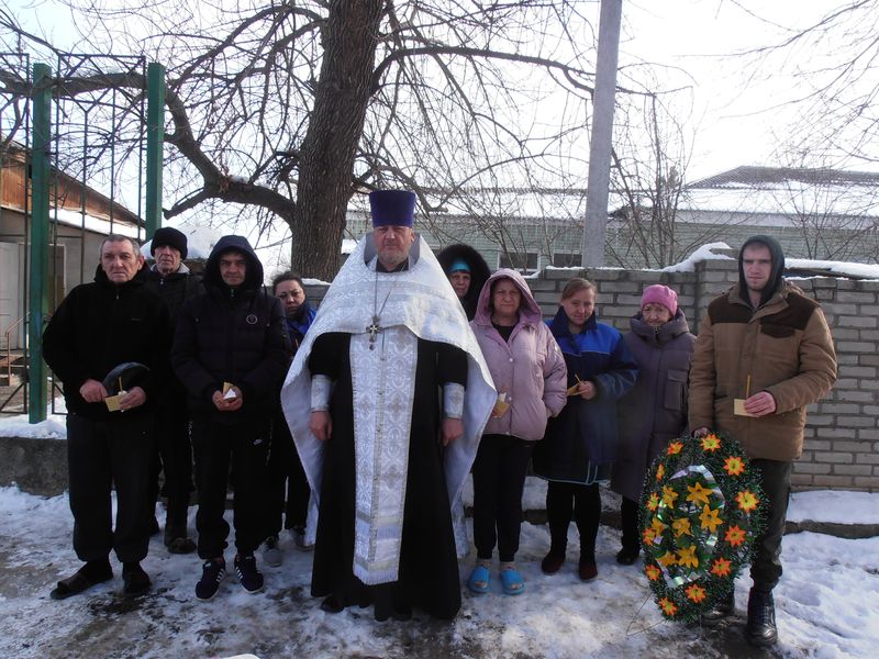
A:
[[[165,532],[186,536],[187,510],[192,484],[192,444],[189,440],[189,415],[186,407],[163,409],[156,414],[157,453],[149,474],[151,501],[158,501],[158,474],[165,471],[162,494],[167,498]]]

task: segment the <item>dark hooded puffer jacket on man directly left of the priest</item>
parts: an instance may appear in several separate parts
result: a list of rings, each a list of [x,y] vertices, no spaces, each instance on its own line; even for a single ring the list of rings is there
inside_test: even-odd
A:
[[[236,250],[247,264],[242,286],[220,276],[220,256]],[[204,266],[205,292],[180,310],[171,364],[189,394],[193,418],[233,422],[274,411],[288,364],[288,339],[280,300],[262,290],[263,265],[243,236],[223,236]],[[242,390],[244,405],[219,412],[211,396],[223,383]]]

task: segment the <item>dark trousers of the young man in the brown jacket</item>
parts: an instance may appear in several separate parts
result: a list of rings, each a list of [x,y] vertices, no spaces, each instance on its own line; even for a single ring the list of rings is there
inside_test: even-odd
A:
[[[754,459],[750,463],[760,473],[764,495],[769,504],[766,529],[754,543],[750,578],[755,590],[769,592],[781,579],[781,538],[788,516],[793,462]]]

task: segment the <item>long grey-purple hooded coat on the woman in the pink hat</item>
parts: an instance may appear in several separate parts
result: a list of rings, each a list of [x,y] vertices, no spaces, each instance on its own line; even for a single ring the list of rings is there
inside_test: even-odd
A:
[[[611,489],[638,501],[647,467],[687,427],[690,359],[696,336],[683,310],[656,330],[641,312],[623,339],[638,365],[635,386],[617,404],[620,445]]]

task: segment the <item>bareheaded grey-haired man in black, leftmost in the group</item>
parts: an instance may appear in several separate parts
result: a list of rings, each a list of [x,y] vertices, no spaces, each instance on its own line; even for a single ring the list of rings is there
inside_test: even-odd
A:
[[[126,595],[151,585],[141,561],[149,545],[153,406],[168,375],[170,325],[162,300],[137,277],[144,258],[134,239],[109,235],[100,258],[94,281],[70,291],[43,335],[46,364],[64,383],[74,549],[86,562],[58,582],[54,600],[112,579],[111,549]]]

